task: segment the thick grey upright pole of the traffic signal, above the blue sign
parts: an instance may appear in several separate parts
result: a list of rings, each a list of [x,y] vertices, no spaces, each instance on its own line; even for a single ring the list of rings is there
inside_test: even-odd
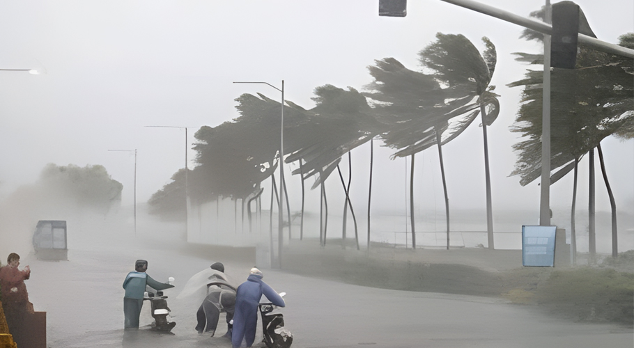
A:
[[[546,23],[551,21],[550,0],[546,0]],[[541,116],[541,195],[539,226],[550,226],[550,35],[543,35],[543,98]]]

